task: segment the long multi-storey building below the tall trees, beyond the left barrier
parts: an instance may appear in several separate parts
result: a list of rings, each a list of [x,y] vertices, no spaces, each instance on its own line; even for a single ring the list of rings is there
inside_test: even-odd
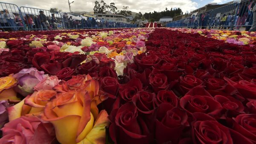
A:
[[[120,14],[113,14],[111,12],[107,12],[106,14],[97,14],[97,19],[99,20],[107,20],[112,22],[120,22],[120,23],[127,23],[127,18]]]

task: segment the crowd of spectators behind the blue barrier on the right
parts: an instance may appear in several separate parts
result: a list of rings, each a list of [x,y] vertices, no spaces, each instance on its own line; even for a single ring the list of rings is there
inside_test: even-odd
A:
[[[236,10],[236,9],[234,9]],[[241,3],[238,11],[204,12],[201,14],[192,14],[184,20],[178,20],[166,24],[170,27],[188,27],[188,28],[218,28],[230,30],[239,30],[245,26],[246,31],[256,31],[256,0]],[[234,28],[232,27],[234,26]],[[252,26],[250,26],[252,25]]]

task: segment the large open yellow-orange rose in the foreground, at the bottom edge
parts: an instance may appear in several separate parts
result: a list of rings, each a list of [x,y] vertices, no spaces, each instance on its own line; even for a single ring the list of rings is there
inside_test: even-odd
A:
[[[87,91],[80,90],[59,93],[46,104],[42,119],[53,124],[56,138],[61,144],[79,143],[93,129],[90,102]]]

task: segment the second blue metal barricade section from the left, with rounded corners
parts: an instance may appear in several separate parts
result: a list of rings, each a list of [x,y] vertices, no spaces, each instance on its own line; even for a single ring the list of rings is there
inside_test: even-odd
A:
[[[57,11],[20,7],[26,30],[63,29],[63,19]]]

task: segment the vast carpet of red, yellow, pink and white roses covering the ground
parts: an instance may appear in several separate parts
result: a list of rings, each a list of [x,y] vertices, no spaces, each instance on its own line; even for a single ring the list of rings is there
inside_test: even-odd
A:
[[[0,143],[256,143],[253,39],[181,30],[1,39]]]

